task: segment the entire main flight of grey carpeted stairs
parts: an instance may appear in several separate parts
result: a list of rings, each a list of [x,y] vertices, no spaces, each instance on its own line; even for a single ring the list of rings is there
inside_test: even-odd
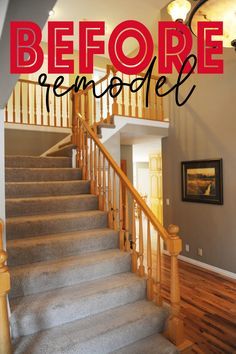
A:
[[[177,353],[69,157],[6,157],[6,198],[14,353]]]

